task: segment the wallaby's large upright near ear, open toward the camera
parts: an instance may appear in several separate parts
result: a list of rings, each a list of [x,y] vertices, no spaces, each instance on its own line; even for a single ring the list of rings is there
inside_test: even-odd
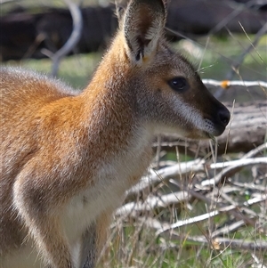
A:
[[[135,64],[150,60],[158,46],[166,20],[166,4],[162,0],[132,0],[124,14],[122,30],[126,53]]]

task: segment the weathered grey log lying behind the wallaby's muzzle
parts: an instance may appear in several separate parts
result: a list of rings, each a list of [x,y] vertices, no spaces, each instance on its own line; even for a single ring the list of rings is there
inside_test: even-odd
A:
[[[231,123],[227,126],[222,136],[217,138],[217,153],[224,152],[247,152],[263,144],[267,134],[267,102],[245,102],[226,103],[231,110]],[[205,156],[210,151],[210,141],[182,140],[175,135],[164,135],[161,137],[160,146],[162,150],[175,150],[191,156]],[[154,142],[158,146],[158,142]]]

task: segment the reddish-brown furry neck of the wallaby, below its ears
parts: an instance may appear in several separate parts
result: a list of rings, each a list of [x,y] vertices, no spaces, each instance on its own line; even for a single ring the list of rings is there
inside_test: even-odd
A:
[[[136,139],[148,144],[153,134],[137,116],[136,95],[130,86],[130,63],[125,60],[123,49],[120,52],[118,45],[112,46],[116,49],[111,47],[105,55],[81,97],[85,103],[84,115],[90,120],[89,135],[107,151],[115,152]]]

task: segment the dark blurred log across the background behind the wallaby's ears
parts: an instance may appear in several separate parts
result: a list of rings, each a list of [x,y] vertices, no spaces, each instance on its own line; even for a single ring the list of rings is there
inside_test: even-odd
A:
[[[85,7],[82,9],[84,29],[76,53],[89,53],[103,48],[117,28],[114,6]],[[166,26],[184,35],[221,34],[224,28],[256,33],[266,20],[266,11],[255,11],[222,0],[173,0],[168,8]],[[0,59],[44,58],[43,48],[55,53],[68,40],[72,19],[68,10],[42,8],[13,11],[0,18]],[[176,33],[167,31],[175,40]]]

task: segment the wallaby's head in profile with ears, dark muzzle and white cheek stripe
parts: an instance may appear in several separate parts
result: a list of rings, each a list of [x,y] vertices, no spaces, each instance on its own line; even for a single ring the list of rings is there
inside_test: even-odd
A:
[[[229,111],[208,92],[190,62],[166,42],[166,2],[117,2],[120,53],[132,68],[127,86],[134,92],[140,117],[156,132],[189,138],[222,134]]]

